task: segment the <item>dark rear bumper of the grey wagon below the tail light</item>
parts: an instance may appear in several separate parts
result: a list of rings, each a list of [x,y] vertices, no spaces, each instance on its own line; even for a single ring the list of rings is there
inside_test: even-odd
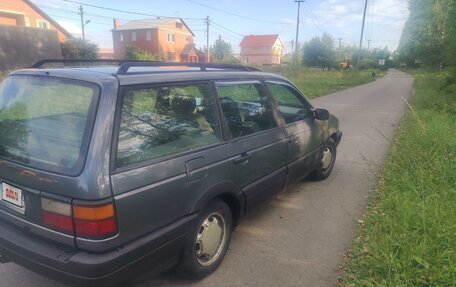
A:
[[[0,254],[53,279],[84,286],[125,281],[140,272],[157,274],[179,260],[189,227],[188,216],[106,253],[65,250],[26,231],[0,222]]]

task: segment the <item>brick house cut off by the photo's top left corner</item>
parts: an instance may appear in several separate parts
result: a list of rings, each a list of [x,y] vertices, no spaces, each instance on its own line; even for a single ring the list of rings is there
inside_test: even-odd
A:
[[[1,0],[0,25],[54,30],[60,42],[73,36],[28,0]]]

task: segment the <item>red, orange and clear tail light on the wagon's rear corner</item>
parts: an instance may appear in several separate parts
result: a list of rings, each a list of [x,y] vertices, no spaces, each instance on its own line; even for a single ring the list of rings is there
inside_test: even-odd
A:
[[[82,205],[41,198],[42,220],[48,227],[88,239],[117,233],[114,204]]]

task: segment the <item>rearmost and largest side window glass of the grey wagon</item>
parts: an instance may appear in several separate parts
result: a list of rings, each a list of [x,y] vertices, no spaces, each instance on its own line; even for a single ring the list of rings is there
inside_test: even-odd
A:
[[[205,84],[125,88],[117,167],[220,141],[215,101]]]

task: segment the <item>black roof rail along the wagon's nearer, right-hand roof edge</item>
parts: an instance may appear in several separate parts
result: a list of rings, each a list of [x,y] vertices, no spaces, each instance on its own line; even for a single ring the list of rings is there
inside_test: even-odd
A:
[[[257,68],[242,66],[236,64],[214,64],[214,63],[180,63],[180,62],[152,62],[152,61],[125,61],[120,64],[117,70],[117,75],[127,75],[128,70],[133,67],[189,67],[200,68],[201,71],[207,69],[222,69],[222,70],[240,70],[240,71],[260,71]],[[147,72],[145,72],[147,73]]]

